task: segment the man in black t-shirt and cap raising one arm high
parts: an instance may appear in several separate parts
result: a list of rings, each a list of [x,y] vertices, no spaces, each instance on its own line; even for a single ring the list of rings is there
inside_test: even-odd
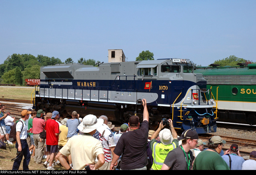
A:
[[[120,170],[147,170],[147,137],[148,137],[148,111],[146,99],[142,100],[144,106],[143,122],[140,127],[139,117],[133,115],[129,118],[130,131],[123,133],[114,149],[114,156],[110,170],[114,170],[114,163],[123,154]]]

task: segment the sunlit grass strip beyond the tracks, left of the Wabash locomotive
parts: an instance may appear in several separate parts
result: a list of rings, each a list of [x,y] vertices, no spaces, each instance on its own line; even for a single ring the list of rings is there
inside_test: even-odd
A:
[[[30,100],[33,88],[0,86],[0,98]],[[34,95],[34,92],[33,94]],[[4,96],[4,97],[3,97]],[[33,96],[32,96],[33,97]]]

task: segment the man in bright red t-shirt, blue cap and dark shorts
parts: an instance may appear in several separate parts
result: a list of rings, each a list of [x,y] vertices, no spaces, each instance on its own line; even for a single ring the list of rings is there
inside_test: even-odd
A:
[[[47,170],[54,170],[52,167],[54,154],[58,152],[58,141],[59,141],[59,124],[56,122],[58,119],[59,112],[53,111],[52,117],[50,120],[46,121],[45,130],[46,130],[46,148],[50,152],[50,162]]]

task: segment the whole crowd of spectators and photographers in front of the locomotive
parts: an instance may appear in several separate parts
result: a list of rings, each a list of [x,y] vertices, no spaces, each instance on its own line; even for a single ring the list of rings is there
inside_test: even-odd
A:
[[[142,105],[143,121],[133,115],[118,132],[105,115],[82,119],[73,111],[71,119],[59,122],[58,111],[23,110],[16,122],[15,147],[20,154],[13,170],[19,169],[23,157],[23,170],[29,169],[31,158],[47,170],[58,164],[67,170],[256,170],[256,151],[249,160],[241,157],[237,144],[223,152],[226,141],[220,136],[209,138],[204,150],[206,143],[196,131],[188,129],[178,137],[171,119],[162,121],[156,131],[149,130],[145,99]],[[0,104],[0,141],[13,144],[8,134],[14,123],[10,111]]]

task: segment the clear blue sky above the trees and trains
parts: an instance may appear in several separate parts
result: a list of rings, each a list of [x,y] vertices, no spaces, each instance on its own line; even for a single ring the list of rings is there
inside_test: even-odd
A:
[[[0,1],[0,64],[13,53],[74,62],[186,58],[206,66],[235,55],[256,61],[256,1]]]

